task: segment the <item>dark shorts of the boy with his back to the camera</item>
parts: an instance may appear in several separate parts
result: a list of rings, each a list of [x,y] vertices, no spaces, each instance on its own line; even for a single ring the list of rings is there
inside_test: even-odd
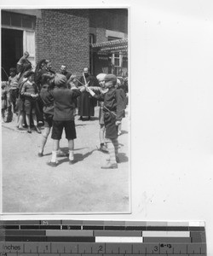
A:
[[[53,131],[51,138],[54,140],[60,140],[63,129],[65,128],[65,134],[67,140],[73,140],[76,138],[75,122],[69,121],[55,121],[53,120]]]

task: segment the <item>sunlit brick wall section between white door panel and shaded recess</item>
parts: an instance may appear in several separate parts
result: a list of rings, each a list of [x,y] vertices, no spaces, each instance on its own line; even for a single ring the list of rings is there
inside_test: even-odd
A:
[[[51,60],[55,72],[66,64],[68,71],[81,75],[89,67],[89,11],[42,9],[36,22],[36,59]]]

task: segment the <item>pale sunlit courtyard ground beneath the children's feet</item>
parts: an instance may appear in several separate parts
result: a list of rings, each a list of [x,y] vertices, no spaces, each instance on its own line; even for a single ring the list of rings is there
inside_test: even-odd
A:
[[[98,107],[95,118],[81,121],[76,117],[76,164],[67,157],[59,166],[47,166],[51,158],[49,140],[42,158],[37,157],[42,135],[17,131],[15,120],[2,125],[3,212],[35,213],[108,213],[130,212],[130,120],[123,119],[118,137],[118,169],[101,169],[108,154],[99,147]],[[67,150],[63,134],[60,148]]]

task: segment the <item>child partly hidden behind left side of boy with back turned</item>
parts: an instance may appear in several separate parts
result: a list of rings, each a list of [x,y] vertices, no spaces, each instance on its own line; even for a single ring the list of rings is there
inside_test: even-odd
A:
[[[53,126],[53,116],[54,116],[54,97],[51,95],[51,90],[54,89],[54,74],[50,73],[43,73],[42,75],[42,84],[43,87],[40,91],[40,97],[43,101],[43,121],[44,121],[44,130],[43,130],[43,137],[41,148],[37,155],[39,157],[43,156],[43,149],[45,144],[47,143],[47,139],[49,137],[49,132],[51,127]],[[62,152],[59,148],[57,152],[57,156],[66,156],[66,153]]]

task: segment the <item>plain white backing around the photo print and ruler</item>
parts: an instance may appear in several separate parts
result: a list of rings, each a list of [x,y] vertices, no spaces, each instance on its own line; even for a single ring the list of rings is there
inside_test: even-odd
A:
[[[63,3],[130,6],[132,214],[49,218],[202,220],[213,255],[213,1]]]

